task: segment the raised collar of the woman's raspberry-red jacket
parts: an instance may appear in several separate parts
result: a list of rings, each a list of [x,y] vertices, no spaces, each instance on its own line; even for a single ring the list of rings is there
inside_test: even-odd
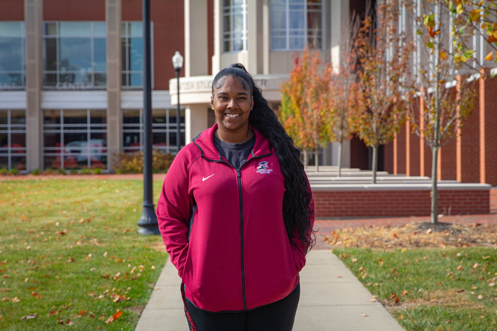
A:
[[[203,158],[216,161],[221,160],[221,154],[214,145],[214,132],[216,132],[217,128],[218,125],[216,123],[212,128],[204,130],[198,136],[193,138],[193,143],[198,147],[198,149],[200,149]],[[255,130],[254,127],[250,126],[250,129],[252,129],[255,134],[255,144],[250,157],[271,154],[269,139],[263,136],[262,133]]]

